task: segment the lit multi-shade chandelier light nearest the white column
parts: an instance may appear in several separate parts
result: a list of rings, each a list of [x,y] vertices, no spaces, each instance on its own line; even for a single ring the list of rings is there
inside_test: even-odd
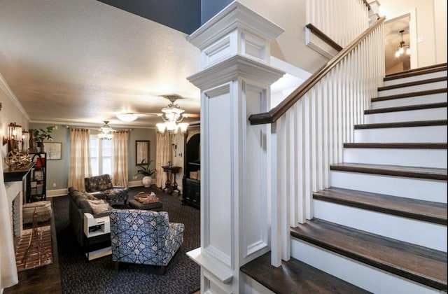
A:
[[[185,134],[187,132],[188,123],[181,123],[181,121],[188,116],[184,113],[185,111],[175,103],[180,96],[168,95],[164,97],[169,99],[170,103],[167,107],[162,109],[162,113],[158,114],[158,116],[165,121],[165,123],[158,123],[155,125],[158,132],[164,134],[165,131],[167,131],[170,134],[177,134],[180,130],[181,134]]]

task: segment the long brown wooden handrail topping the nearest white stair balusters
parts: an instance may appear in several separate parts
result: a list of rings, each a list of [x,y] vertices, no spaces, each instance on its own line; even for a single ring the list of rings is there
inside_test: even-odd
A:
[[[305,80],[302,85],[297,87],[297,89],[286,97],[279,105],[275,106],[268,112],[265,113],[256,113],[249,116],[248,120],[251,122],[251,125],[263,125],[267,123],[275,123],[281,116],[283,116],[288,109],[290,109],[295,102],[297,102],[300,98],[306,94],[311,87],[316,85],[321,78],[325,76],[331,69],[333,69],[339,62],[344,59],[349,53],[356,48],[361,41],[363,41],[374,29],[376,29],[381,23],[384,22],[386,18],[383,16],[379,18],[374,25],[366,29],[363,34],[360,34],[358,38],[353,40],[349,45],[346,46],[342,51],[337,53],[335,57],[330,59],[326,64],[324,64],[321,69],[313,73],[307,80]]]

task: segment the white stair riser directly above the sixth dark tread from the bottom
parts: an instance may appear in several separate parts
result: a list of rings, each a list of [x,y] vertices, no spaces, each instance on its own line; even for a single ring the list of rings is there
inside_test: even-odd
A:
[[[412,111],[393,111],[372,113],[364,116],[364,123],[398,123],[412,120],[446,120],[447,107],[419,109]]]

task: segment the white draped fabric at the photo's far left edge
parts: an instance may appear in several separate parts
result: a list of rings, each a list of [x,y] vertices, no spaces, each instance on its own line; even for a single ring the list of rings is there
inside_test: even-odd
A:
[[[0,155],[0,159],[3,162],[3,155]],[[3,165],[0,165],[0,293],[3,293],[3,288],[8,288],[19,282],[9,207],[10,203],[6,197],[5,179],[3,178]]]

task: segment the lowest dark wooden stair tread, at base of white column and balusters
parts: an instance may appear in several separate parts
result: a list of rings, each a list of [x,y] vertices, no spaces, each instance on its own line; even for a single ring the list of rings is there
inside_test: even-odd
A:
[[[274,293],[370,293],[295,258],[274,267],[270,252],[243,265],[241,272]]]

